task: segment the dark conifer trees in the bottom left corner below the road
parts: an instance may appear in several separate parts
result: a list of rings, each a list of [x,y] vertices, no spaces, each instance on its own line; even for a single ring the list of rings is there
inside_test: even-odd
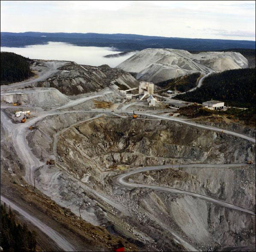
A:
[[[36,233],[15,220],[11,208],[1,205],[1,247],[3,251],[36,251]]]

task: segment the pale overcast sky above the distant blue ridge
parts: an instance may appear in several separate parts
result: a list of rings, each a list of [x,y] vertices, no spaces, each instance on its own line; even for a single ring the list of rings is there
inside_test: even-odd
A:
[[[1,1],[0,29],[255,40],[255,1]]]

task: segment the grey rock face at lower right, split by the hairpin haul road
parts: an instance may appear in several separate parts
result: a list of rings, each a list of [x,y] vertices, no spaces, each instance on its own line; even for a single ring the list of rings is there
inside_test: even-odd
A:
[[[193,191],[255,210],[255,167],[252,165],[221,169],[169,168],[136,174],[128,180]],[[161,209],[161,204],[158,205]],[[162,207],[189,238],[199,243],[207,244],[210,240],[221,246],[255,243],[255,217],[249,214],[189,196],[163,201]]]

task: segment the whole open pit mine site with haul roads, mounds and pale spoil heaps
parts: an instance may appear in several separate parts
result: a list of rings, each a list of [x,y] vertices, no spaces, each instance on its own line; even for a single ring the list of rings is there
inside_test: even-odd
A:
[[[161,62],[138,68],[147,50]],[[128,73],[203,77],[247,60],[179,51],[116,69],[35,60],[35,77],[1,86],[1,201],[55,251],[255,250],[255,128],[177,117]]]

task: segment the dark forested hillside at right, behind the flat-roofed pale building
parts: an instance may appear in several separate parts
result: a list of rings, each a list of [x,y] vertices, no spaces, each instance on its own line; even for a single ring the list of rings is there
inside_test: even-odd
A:
[[[212,74],[200,88],[176,98],[198,103],[213,99],[229,106],[255,108],[255,68]]]

